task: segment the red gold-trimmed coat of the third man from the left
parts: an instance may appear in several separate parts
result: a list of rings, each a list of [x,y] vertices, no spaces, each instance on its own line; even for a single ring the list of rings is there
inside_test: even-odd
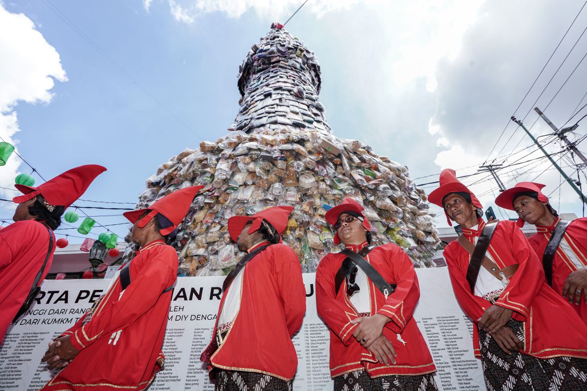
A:
[[[267,242],[249,251],[264,244]],[[306,312],[306,289],[298,257],[285,244],[272,244],[248,261],[241,273],[238,314],[212,354],[211,367],[291,380],[298,366],[291,338],[301,327]],[[218,314],[231,288],[232,284],[222,294]],[[218,319],[204,360],[215,343],[217,327]]]

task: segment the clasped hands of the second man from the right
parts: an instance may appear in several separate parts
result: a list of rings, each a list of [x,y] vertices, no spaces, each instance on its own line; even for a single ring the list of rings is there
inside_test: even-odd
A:
[[[509,308],[492,305],[481,318],[477,319],[477,326],[491,335],[501,350],[508,354],[519,352],[524,348],[512,329],[505,325],[511,319],[513,312]]]

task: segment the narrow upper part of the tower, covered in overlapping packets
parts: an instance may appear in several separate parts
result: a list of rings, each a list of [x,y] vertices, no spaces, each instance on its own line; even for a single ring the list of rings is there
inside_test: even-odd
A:
[[[239,67],[241,107],[229,130],[330,132],[318,100],[321,82],[314,53],[282,25],[273,23]]]

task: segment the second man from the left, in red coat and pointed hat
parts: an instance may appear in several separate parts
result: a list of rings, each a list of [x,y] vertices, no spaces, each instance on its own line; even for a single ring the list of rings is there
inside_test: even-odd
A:
[[[177,251],[166,241],[176,236],[201,188],[177,190],[124,213],[140,249],[93,307],[49,344],[42,361],[65,369],[42,390],[140,391],[153,382],[164,363],[161,345],[177,278]]]

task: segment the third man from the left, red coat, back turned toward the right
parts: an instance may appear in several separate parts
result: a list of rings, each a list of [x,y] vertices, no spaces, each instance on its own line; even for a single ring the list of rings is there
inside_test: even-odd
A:
[[[228,219],[228,232],[247,255],[228,274],[212,333],[201,355],[218,391],[288,391],[298,355],[292,336],[306,312],[302,267],[281,243],[291,206]]]

